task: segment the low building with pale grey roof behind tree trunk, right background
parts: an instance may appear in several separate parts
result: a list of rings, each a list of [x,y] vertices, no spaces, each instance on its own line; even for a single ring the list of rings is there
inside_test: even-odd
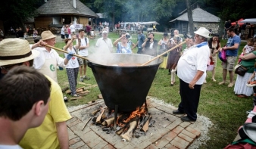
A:
[[[194,29],[205,27],[206,29],[212,29],[212,32],[217,33],[220,17],[210,14],[201,8],[195,8],[192,10],[192,17]],[[189,17],[186,11],[183,11],[180,17],[170,20],[170,23],[172,23],[172,28],[178,29],[180,33],[189,33]]]

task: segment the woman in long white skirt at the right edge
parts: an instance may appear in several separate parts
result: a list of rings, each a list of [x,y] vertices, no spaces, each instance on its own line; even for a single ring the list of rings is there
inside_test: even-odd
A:
[[[256,50],[256,42],[254,42],[254,50]],[[254,72],[256,51],[252,51],[251,53],[243,56],[240,55],[239,58],[242,59],[240,65],[246,68],[246,72],[244,76],[240,76],[241,74],[237,75],[234,92],[239,98],[246,98],[253,94],[253,88],[248,87],[246,84],[248,79],[251,77],[251,74]]]

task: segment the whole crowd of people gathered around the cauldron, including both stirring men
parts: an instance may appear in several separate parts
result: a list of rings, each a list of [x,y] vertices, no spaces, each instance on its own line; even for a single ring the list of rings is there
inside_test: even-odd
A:
[[[4,137],[0,135],[0,148],[68,147],[66,121],[71,116],[64,104],[61,87],[58,85],[57,69],[58,67],[66,68],[70,95],[79,96],[76,94],[77,80],[83,82],[84,79],[90,78],[86,75],[87,61],[73,54],[89,56],[89,39],[92,35],[89,32],[90,26],[88,24],[86,26],[88,27],[85,29],[79,29],[78,33],[72,23],[63,26],[61,38],[65,43],[63,50],[67,51],[64,58],[60,57],[55,49],[46,46],[54,47],[56,43],[56,36],[49,30],[42,32],[41,39],[32,46],[27,40],[19,38],[3,39],[0,42],[0,68],[4,74],[0,79],[0,107],[6,107],[0,108],[0,130],[7,134]],[[228,26],[225,26],[228,40],[225,46],[220,44],[217,33],[210,33],[208,29],[200,27],[194,32],[194,37],[185,39],[186,48],[184,49],[180,44],[184,39],[181,38],[177,29],[173,31],[173,36],[163,33],[163,38],[158,41],[154,33],[148,33],[145,36],[139,28],[136,43],[133,43],[130,40],[130,34],[125,32],[120,33],[119,38],[112,43],[108,38],[108,30],[102,30],[102,37],[97,39],[95,48],[104,50],[105,53],[133,54],[135,53],[133,49],[138,48],[137,54],[148,54],[154,57],[162,54],[163,63],[160,68],[169,71],[170,86],[175,85],[176,75],[180,79],[181,101],[178,109],[173,110],[173,114],[186,113],[186,116],[180,116],[180,119],[195,122],[201,85],[207,83],[206,72],[209,61],[214,64],[211,80],[216,82],[217,53],[221,51],[226,51],[226,61],[222,63],[223,81],[219,82],[219,85],[226,84],[226,76],[229,73],[230,81],[227,86],[232,88],[235,85],[234,92],[241,98],[253,95],[254,105],[256,104],[256,82],[254,81],[256,41],[248,39],[247,45],[239,56],[239,64],[246,67],[247,72],[244,76],[238,75],[235,83],[234,67],[241,39],[236,34],[236,28],[226,27]],[[34,30],[34,34],[36,37],[38,33]],[[73,45],[74,41],[76,43]],[[170,48],[173,50],[167,53],[166,51]],[[164,52],[166,54],[163,54]],[[2,89],[6,86],[10,88],[8,90],[10,92]],[[20,88],[26,88],[29,91],[20,91],[22,94],[15,94],[14,92]],[[26,101],[27,97],[30,97],[29,102]],[[21,108],[20,105],[26,109]],[[15,110],[10,111],[8,108],[15,108]],[[27,125],[21,125],[22,127],[18,128],[20,123],[27,123]],[[17,130],[17,133],[13,130]]]

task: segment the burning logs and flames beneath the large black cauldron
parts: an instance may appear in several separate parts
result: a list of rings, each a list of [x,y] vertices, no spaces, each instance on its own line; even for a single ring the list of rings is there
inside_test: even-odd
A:
[[[146,135],[148,127],[155,123],[145,104],[131,113],[117,113],[116,125],[114,125],[114,110],[109,110],[108,107],[100,107],[90,113],[90,116],[93,116],[92,124],[100,126],[107,134],[115,132],[123,141],[131,141],[133,137]]]

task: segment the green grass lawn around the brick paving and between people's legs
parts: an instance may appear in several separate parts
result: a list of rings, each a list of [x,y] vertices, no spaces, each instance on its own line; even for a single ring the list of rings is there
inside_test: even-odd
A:
[[[115,33],[110,33],[109,38],[114,42],[118,36]],[[155,35],[155,39],[159,40],[162,35]],[[90,47],[95,46],[96,39],[90,40]],[[133,36],[133,42],[136,42],[136,36]],[[221,45],[225,45],[226,40],[221,41]],[[64,42],[58,42],[56,45],[58,48],[64,46]],[[245,43],[242,43],[239,48],[239,54]],[[92,50],[89,49],[89,52]],[[134,49],[136,53],[137,49]],[[59,53],[60,55],[63,55]],[[173,104],[175,107],[180,104],[179,91],[179,79],[176,77],[176,84],[170,86],[170,76],[167,75],[168,70],[159,69],[154,82],[151,85],[148,95],[164,100],[167,103]],[[87,75],[90,76],[90,80],[84,80],[84,83],[95,85],[96,81],[92,74],[92,70],[87,68]],[[236,76],[236,75],[235,75]],[[226,85],[218,85],[218,82],[222,81],[222,67],[221,62],[217,60],[217,70],[215,79],[217,82],[211,81],[211,72],[208,72],[207,84],[202,85],[201,98],[198,107],[198,114],[207,116],[214,126],[209,131],[211,139],[202,145],[200,148],[223,148],[227,144],[236,138],[237,130],[239,126],[242,126],[247,119],[245,113],[246,110],[252,108],[251,98],[238,98],[233,92],[233,88],[228,88]],[[236,79],[236,77],[235,77]],[[229,80],[229,76],[226,80]],[[58,82],[61,88],[68,85],[66,70],[58,70]],[[86,86],[78,84],[77,87]],[[89,101],[97,99],[97,95],[101,94],[98,87],[90,88],[89,95],[83,96],[83,99],[68,101],[67,107],[76,106],[79,104],[86,104]],[[69,95],[67,95],[70,98]]]

